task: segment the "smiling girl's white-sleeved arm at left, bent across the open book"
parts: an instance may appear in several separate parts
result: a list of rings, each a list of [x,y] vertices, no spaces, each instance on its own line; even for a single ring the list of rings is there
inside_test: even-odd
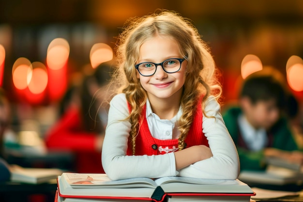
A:
[[[124,94],[113,98],[108,112],[106,136],[102,148],[102,164],[113,180],[133,177],[175,176],[174,154],[126,155],[131,124],[120,121],[129,115]]]

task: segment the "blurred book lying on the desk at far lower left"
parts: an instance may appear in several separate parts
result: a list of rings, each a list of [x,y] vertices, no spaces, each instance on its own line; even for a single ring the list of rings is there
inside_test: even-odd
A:
[[[60,169],[55,168],[23,168],[20,166],[12,166],[10,172],[12,182],[29,184],[40,184],[56,180],[62,174]]]

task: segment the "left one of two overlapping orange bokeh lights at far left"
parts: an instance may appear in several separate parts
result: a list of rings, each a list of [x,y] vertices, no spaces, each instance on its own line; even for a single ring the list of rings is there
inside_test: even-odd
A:
[[[13,83],[14,86],[23,90],[28,87],[28,81],[32,77],[32,66],[30,61],[27,58],[18,58],[12,69]]]

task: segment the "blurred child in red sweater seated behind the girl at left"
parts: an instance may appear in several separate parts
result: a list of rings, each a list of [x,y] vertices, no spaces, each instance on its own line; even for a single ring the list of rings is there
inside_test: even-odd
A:
[[[73,93],[78,101],[65,109],[45,136],[49,150],[75,152],[76,172],[102,173],[101,150],[107,124],[107,84],[111,63],[106,62],[83,78]],[[76,104],[78,103],[78,104]]]

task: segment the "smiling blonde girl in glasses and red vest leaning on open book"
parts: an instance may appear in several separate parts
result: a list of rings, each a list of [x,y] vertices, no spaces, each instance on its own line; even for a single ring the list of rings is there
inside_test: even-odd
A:
[[[121,90],[110,102],[102,150],[108,176],[236,179],[239,157],[197,29],[165,11],[137,19],[120,36],[114,82]]]

